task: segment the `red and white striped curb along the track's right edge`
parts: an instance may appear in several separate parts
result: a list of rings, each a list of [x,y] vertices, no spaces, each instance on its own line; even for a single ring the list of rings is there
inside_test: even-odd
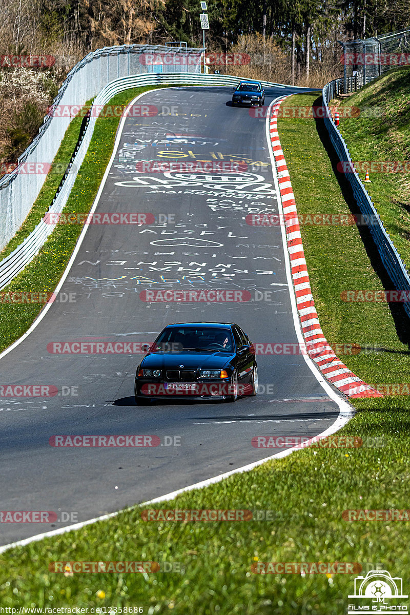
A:
[[[299,319],[309,356],[316,363],[325,378],[347,397],[383,397],[372,386],[366,384],[355,376],[346,365],[338,359],[332,351],[320,327],[312,289],[310,288],[309,274],[307,273],[305,253],[302,244],[301,229],[298,212],[294,200],[285,156],[283,156],[278,134],[278,109],[282,101],[288,98],[279,98],[272,105],[272,114],[269,121],[269,135],[275,164],[278,172],[280,198],[282,200],[283,217],[285,218],[286,239],[291,263],[291,276],[293,279],[296,304]]]

